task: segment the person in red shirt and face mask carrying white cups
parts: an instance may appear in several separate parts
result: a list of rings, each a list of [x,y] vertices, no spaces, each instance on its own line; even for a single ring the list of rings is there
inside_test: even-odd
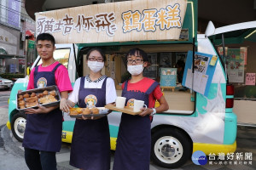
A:
[[[122,85],[122,96],[126,98],[126,105],[131,106],[134,99],[138,99],[143,100],[148,108],[141,108],[143,112],[137,116],[122,114],[113,170],[148,170],[151,147],[150,116],[167,111],[169,106],[161,93],[159,83],[143,77],[143,70],[148,66],[148,55],[142,49],[133,48],[125,57],[127,70],[131,73],[131,80]],[[158,108],[154,108],[155,99],[160,103]]]

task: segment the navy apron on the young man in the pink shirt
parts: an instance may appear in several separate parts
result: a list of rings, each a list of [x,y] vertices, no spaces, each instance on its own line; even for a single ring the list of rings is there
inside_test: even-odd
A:
[[[45,82],[45,86],[55,84],[55,71],[39,71],[38,66],[34,72],[34,87],[38,82]],[[62,112],[59,108],[47,114],[32,114],[26,116],[26,130],[22,146],[34,150],[57,152],[61,150]]]

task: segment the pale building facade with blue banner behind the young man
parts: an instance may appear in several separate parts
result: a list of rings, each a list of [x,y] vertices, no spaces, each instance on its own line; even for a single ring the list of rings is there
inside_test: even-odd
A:
[[[25,72],[26,31],[34,32],[35,24],[24,7],[23,1],[0,1],[0,73]]]

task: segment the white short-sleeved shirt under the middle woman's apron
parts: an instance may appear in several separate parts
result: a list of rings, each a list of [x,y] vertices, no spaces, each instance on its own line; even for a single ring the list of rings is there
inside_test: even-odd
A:
[[[100,78],[101,79],[101,78]],[[102,88],[102,84],[105,78],[102,80],[91,82],[86,77],[84,78],[84,88]],[[73,86],[73,92],[69,94],[68,99],[73,103],[77,104],[79,102],[79,89],[80,89],[81,78],[78,78]],[[116,90],[114,86],[113,79],[108,77],[106,82],[106,104],[115,102]]]

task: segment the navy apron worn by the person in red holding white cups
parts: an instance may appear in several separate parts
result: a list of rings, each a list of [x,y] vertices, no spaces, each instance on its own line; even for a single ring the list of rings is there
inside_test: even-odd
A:
[[[154,82],[146,91],[127,91],[127,84],[122,96],[129,99],[143,100],[148,106],[148,97],[158,86]],[[123,113],[119,125],[117,147],[114,154],[113,170],[148,170],[150,161],[151,132],[149,116],[132,116]]]

